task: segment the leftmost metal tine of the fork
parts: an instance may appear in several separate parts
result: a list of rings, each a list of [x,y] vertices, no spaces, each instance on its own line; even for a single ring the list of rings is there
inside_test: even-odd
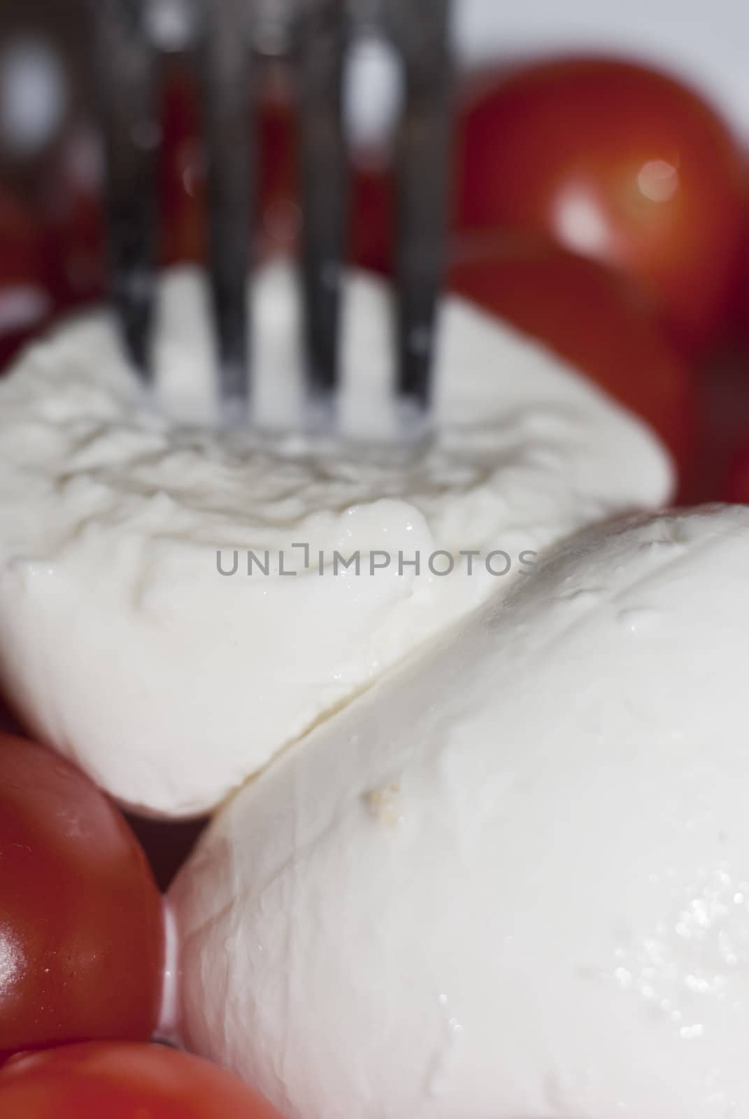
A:
[[[111,295],[130,358],[150,379],[156,265],[156,56],[148,0],[94,0],[109,210]]]

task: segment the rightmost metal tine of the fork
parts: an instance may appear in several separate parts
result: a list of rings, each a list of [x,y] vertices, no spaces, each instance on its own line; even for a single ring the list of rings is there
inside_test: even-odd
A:
[[[399,130],[396,282],[399,392],[422,408],[431,392],[449,194],[450,0],[391,0],[405,69]]]

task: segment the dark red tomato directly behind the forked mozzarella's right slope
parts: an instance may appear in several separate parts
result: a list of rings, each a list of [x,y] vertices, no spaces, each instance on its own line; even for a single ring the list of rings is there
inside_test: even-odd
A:
[[[646,420],[684,468],[695,395],[636,284],[539,237],[496,235],[457,254],[450,286],[550,346]]]

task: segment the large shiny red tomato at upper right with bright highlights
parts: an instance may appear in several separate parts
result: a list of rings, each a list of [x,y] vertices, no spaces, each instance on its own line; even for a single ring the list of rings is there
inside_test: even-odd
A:
[[[490,79],[466,100],[458,156],[459,228],[540,229],[620,266],[690,348],[724,327],[745,224],[741,159],[678,82],[598,58]]]

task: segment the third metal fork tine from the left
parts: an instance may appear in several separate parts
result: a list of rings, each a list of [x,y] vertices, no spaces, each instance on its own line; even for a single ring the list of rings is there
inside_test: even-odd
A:
[[[298,26],[305,342],[310,387],[327,395],[337,380],[347,228],[346,11],[346,0],[305,0]]]

